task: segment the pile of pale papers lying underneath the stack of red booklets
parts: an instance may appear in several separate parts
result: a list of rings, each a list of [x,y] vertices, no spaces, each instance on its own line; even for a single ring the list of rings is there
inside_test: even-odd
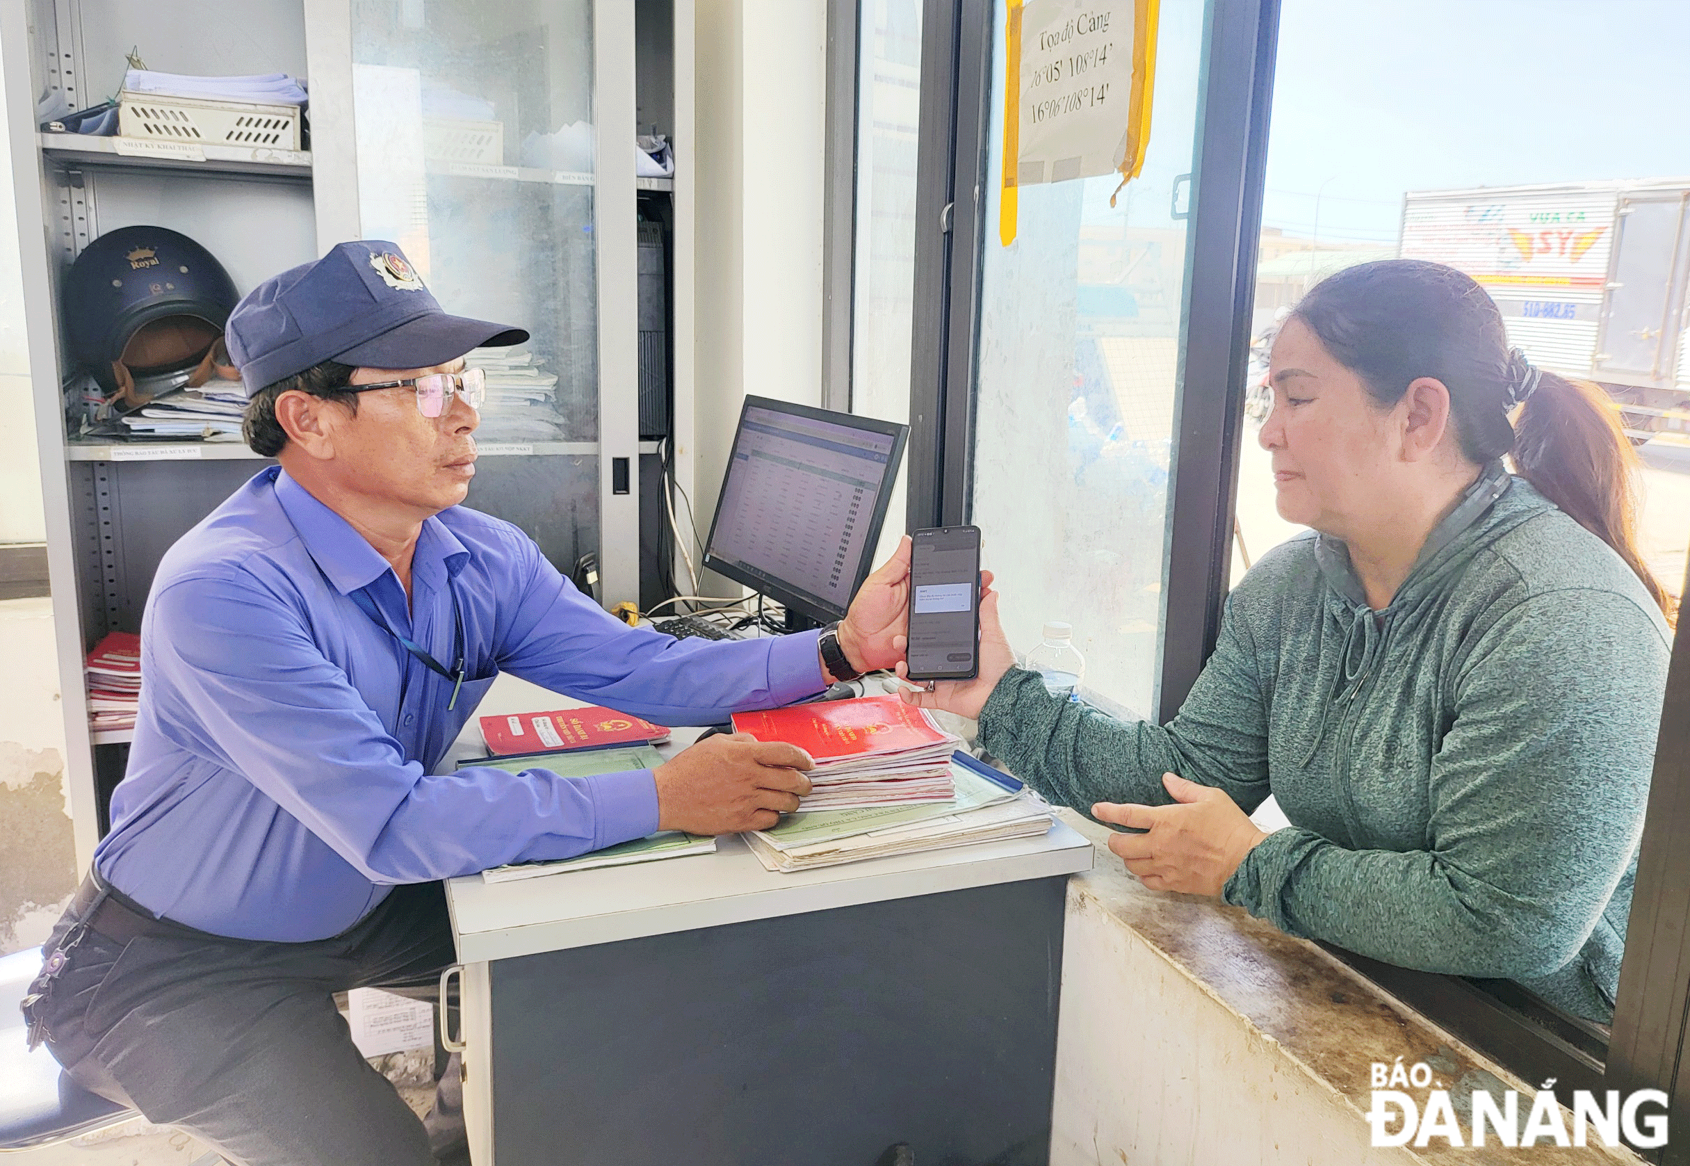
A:
[[[967,754],[957,754],[951,779],[957,796],[943,804],[799,811],[772,830],[742,836],[767,870],[791,874],[975,842],[1034,838],[1051,828],[1049,803]]]

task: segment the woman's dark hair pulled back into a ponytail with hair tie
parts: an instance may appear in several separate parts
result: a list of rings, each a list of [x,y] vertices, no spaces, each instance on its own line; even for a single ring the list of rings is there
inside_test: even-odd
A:
[[[1638,551],[1638,455],[1619,412],[1599,387],[1509,350],[1502,313],[1472,277],[1418,259],[1357,264],[1320,281],[1291,314],[1381,407],[1394,407],[1418,377],[1442,380],[1462,455],[1475,465],[1513,455],[1521,477],[1607,542],[1668,622],[1676,618],[1676,602]]]

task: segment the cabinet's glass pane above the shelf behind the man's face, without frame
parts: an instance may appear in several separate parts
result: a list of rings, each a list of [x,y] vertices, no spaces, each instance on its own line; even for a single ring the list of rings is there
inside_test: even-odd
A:
[[[365,237],[532,333],[477,355],[478,439],[597,439],[592,0],[355,0],[352,83]]]

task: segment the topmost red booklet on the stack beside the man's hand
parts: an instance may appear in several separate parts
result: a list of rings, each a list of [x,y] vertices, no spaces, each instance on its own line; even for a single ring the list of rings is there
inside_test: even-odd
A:
[[[733,730],[757,740],[798,745],[820,769],[852,759],[916,750],[950,757],[951,747],[958,744],[924,708],[906,705],[897,696],[859,696],[762,713],[733,713]]]

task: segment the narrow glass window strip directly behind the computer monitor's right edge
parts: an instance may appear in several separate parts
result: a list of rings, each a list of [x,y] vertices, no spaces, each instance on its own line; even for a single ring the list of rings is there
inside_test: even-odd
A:
[[[852,412],[909,422],[909,321],[916,286],[916,139],[923,0],[862,0],[857,30],[857,230]],[[875,563],[904,532],[904,475]]]

